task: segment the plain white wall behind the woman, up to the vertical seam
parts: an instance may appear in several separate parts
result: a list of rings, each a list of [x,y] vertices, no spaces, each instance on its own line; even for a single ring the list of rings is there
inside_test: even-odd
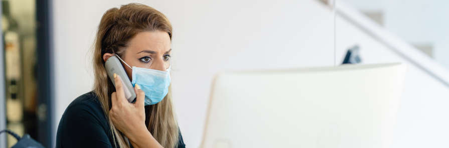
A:
[[[53,1],[56,126],[67,105],[92,88],[89,49],[102,14],[129,2]],[[174,26],[173,95],[189,147],[200,144],[216,72],[334,64],[333,16],[318,1],[137,2]]]

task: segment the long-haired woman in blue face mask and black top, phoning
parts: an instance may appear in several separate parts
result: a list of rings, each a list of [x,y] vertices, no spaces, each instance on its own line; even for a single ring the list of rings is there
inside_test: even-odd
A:
[[[151,7],[128,4],[106,11],[93,52],[93,91],[76,98],[65,110],[56,147],[185,147],[169,88],[171,40],[170,22]],[[104,63],[112,56],[121,60],[130,81],[135,75],[151,79],[155,73],[165,73],[161,82],[166,87],[151,88],[148,82],[133,80],[137,97],[129,103],[121,83],[126,76],[107,77]],[[167,93],[155,99],[152,89]]]

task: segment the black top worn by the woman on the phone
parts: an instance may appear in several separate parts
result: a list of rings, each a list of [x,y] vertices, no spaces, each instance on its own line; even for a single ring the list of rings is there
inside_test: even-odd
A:
[[[95,93],[91,91],[73,100],[59,121],[56,147],[114,147],[113,143],[109,122]],[[181,131],[180,147],[186,147]]]

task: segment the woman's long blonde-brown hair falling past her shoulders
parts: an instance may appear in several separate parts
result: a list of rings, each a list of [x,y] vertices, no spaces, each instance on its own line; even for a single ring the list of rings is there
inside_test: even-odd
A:
[[[94,92],[109,121],[116,147],[129,147],[129,145],[127,138],[114,127],[108,117],[112,106],[111,94],[115,91],[115,87],[106,75],[103,54],[121,55],[129,40],[137,33],[157,30],[167,32],[172,40],[172,25],[161,12],[134,3],[107,10],[98,26],[93,49]],[[145,116],[148,131],[162,146],[175,147],[178,144],[179,129],[173,110],[171,88],[161,102],[145,106]]]

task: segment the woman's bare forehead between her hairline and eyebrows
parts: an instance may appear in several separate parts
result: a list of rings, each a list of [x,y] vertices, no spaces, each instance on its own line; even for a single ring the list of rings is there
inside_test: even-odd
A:
[[[167,32],[152,31],[137,33],[128,43],[128,50],[139,52],[141,50],[152,50],[164,53],[170,50],[170,36]]]

